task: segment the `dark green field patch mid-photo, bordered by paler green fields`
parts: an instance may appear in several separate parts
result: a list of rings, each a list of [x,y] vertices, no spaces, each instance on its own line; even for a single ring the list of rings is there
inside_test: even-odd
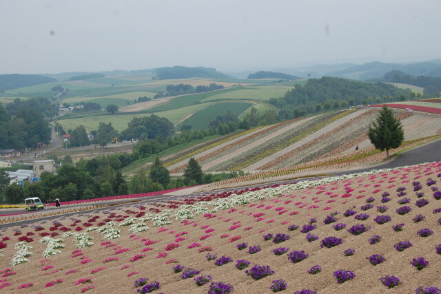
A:
[[[227,114],[227,112],[232,112],[233,114],[240,116],[240,114],[245,112],[245,110],[252,105],[252,103],[246,102],[214,103],[184,120],[183,124],[191,125],[192,129],[204,129],[207,128],[209,122],[214,120],[217,116]]]

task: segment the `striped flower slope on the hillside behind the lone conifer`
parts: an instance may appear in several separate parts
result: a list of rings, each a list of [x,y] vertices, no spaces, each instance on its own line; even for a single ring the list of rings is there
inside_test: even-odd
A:
[[[367,108],[327,112],[251,129],[174,156],[165,161],[165,166],[172,174],[182,173],[188,159],[194,157],[203,171],[243,170],[256,174],[328,165],[327,162],[336,159],[342,161],[342,158],[349,161],[356,154],[361,154],[360,158],[366,158],[366,154],[373,155],[373,145],[367,138],[367,130],[376,119],[378,111],[379,108]],[[407,147],[413,140],[441,135],[441,118],[438,116],[402,112],[397,112],[396,115],[402,122]],[[359,150],[355,154],[357,145]],[[372,160],[374,158],[382,160],[380,155],[371,156]],[[372,160],[369,162],[373,162]],[[358,165],[360,161],[353,163]]]

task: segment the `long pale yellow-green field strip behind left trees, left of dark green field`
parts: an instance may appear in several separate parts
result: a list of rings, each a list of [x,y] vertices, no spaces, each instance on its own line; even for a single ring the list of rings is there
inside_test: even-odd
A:
[[[207,104],[198,104],[179,109],[167,110],[164,112],[155,112],[157,116],[165,117],[172,123],[177,123],[188,114],[198,111],[206,107]],[[134,117],[150,116],[150,114],[114,114],[114,115],[100,115],[100,116],[86,116],[82,118],[70,118],[64,120],[57,120],[63,126],[63,129],[74,129],[79,125],[83,125],[87,132],[98,129],[99,123],[112,123],[114,129],[118,132],[127,129],[127,123]]]

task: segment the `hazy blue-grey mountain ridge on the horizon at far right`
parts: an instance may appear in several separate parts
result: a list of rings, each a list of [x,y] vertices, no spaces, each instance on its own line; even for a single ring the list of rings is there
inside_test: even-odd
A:
[[[436,60],[435,60],[436,61]],[[362,65],[355,65],[342,70],[328,72],[326,76],[336,76],[340,78],[353,78],[358,80],[369,80],[375,78],[382,78],[384,74],[392,70],[400,70],[405,74],[413,76],[428,75],[430,72],[438,70],[440,64],[437,62],[420,62],[420,63],[382,63],[379,61],[365,63]]]

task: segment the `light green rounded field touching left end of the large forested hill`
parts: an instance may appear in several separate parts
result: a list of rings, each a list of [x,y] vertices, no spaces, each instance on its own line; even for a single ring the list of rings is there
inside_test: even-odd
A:
[[[227,100],[227,99],[232,99],[232,100],[249,99],[254,101],[268,101],[269,98],[278,98],[285,95],[285,93],[291,89],[292,87],[278,86],[278,85],[244,87],[242,91],[216,94],[214,96],[209,96],[207,98],[204,98],[203,101]]]

